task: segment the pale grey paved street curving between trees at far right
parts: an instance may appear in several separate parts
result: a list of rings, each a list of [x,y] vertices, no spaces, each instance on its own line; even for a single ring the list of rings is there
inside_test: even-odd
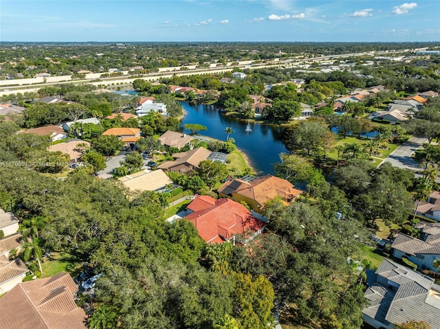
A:
[[[417,148],[422,148],[423,143],[427,141],[428,139],[424,137],[412,137],[406,141],[406,143],[396,148],[391,155],[388,155],[380,164],[382,165],[385,162],[389,162],[395,167],[418,171],[420,170],[419,163],[413,160],[411,155]]]

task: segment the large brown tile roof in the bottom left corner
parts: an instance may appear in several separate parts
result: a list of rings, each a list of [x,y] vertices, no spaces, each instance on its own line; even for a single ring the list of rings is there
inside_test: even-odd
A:
[[[0,299],[1,328],[87,328],[85,312],[73,299],[77,289],[72,277],[64,272],[50,278],[21,282]]]

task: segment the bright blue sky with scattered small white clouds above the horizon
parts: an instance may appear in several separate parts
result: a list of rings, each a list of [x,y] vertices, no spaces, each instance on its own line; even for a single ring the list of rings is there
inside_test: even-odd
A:
[[[0,0],[0,41],[440,41],[440,1]]]

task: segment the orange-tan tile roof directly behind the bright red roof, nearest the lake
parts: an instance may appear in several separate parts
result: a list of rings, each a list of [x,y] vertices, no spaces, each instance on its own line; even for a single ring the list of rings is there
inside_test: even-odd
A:
[[[240,179],[226,182],[219,188],[219,193],[228,196],[232,196],[233,193],[241,194],[263,205],[275,196],[281,196],[285,201],[290,201],[300,195],[302,191],[294,188],[294,185],[289,181],[268,174],[250,183]]]

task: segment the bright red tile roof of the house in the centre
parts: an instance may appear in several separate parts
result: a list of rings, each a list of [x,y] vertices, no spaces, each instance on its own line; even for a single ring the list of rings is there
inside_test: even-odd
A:
[[[256,232],[266,225],[263,220],[252,216],[244,205],[229,198],[215,200],[210,196],[197,196],[187,208],[195,211],[185,218],[209,243],[221,243],[243,232]]]

